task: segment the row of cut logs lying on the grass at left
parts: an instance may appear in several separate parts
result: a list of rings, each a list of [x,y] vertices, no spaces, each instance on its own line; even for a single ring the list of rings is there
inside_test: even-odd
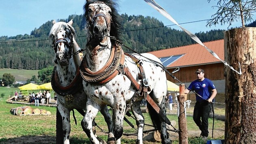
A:
[[[50,111],[46,111],[39,108],[31,108],[30,106],[21,106],[17,108],[11,108],[11,114],[21,116],[21,115],[51,115]]]

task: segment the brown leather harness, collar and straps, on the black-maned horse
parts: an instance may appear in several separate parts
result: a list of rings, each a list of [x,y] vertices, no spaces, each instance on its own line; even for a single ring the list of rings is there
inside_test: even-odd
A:
[[[124,66],[124,55],[131,57],[133,61],[135,61],[135,63],[137,64],[140,70],[138,77],[139,80],[141,80],[141,84],[139,84],[135,80],[135,78],[133,78],[132,74],[129,71],[129,68]],[[130,108],[132,103],[135,102],[137,97],[143,96],[145,100],[147,100],[148,103],[154,108],[154,110],[156,110],[156,112],[163,118],[163,120],[170,125],[171,122],[169,121],[167,116],[161,111],[161,109],[154,102],[154,100],[152,100],[150,95],[148,95],[148,91],[151,90],[150,87],[148,87],[148,80],[145,78],[145,72],[143,70],[142,63],[133,55],[130,55],[129,53],[124,53],[121,49],[121,46],[117,46],[117,44],[113,46],[110,58],[108,59],[106,65],[97,72],[92,72],[91,70],[89,70],[89,68],[87,67],[86,57],[83,58],[80,65],[80,74],[82,78],[88,83],[104,84],[112,80],[115,76],[117,76],[117,74],[120,73],[126,75],[137,89],[135,94],[132,96],[131,101],[126,106],[126,112],[128,111],[128,108]]]

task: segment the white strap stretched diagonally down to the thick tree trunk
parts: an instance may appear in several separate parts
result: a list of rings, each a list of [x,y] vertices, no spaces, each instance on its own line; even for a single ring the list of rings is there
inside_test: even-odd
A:
[[[222,59],[219,58],[219,56],[213,52],[212,50],[208,49],[208,47],[206,47],[203,42],[201,42],[201,40],[199,38],[197,38],[197,36],[195,36],[195,34],[192,34],[191,32],[189,32],[188,30],[184,29],[182,26],[180,26],[172,17],[171,15],[169,15],[169,13],[167,13],[167,11],[165,11],[165,9],[163,9],[161,6],[159,6],[154,0],[144,0],[145,2],[147,2],[150,6],[152,6],[154,9],[156,9],[159,13],[161,13],[163,16],[165,16],[167,19],[169,19],[171,22],[175,23],[176,25],[178,25],[182,30],[184,30],[184,32],[186,32],[193,40],[195,40],[195,42],[197,42],[198,44],[202,45],[210,54],[212,54],[215,58],[219,59],[221,62],[223,62],[223,64],[225,64],[226,66],[228,66],[231,70],[234,70],[234,68],[232,66],[230,66],[226,61],[223,61]],[[241,65],[239,64],[239,72],[234,70],[237,74],[242,74],[241,72]]]

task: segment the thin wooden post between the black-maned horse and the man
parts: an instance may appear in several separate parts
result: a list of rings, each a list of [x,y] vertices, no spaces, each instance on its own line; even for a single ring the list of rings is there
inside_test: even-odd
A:
[[[185,85],[180,84],[180,95],[178,95],[178,103],[179,103],[179,115],[178,115],[178,123],[179,123],[179,143],[180,144],[188,144],[188,128],[187,128],[187,119],[184,111],[184,100],[185,100]]]

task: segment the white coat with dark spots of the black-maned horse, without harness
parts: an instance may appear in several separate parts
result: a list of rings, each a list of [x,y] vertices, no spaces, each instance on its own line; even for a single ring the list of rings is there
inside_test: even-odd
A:
[[[100,1],[100,2],[98,2]],[[87,59],[88,68],[97,72],[101,70],[107,63],[112,45],[110,39],[110,20],[113,20],[111,12],[113,8],[110,8],[109,3],[112,1],[108,0],[87,0],[88,4],[85,4],[85,16],[87,17],[87,47],[85,58]],[[101,2],[103,1],[103,2]],[[108,4],[107,4],[108,3]],[[100,14],[100,15],[99,15]],[[102,15],[104,14],[104,15]],[[96,15],[96,16],[95,16]],[[111,22],[111,25],[114,22]],[[112,27],[111,27],[112,28]],[[106,33],[107,32],[107,33]],[[93,42],[92,42],[93,41]],[[98,42],[98,43],[97,43]],[[135,55],[135,54],[134,54]],[[142,54],[143,56],[161,62],[157,57],[149,53]],[[145,71],[145,77],[148,78],[148,83],[151,91],[148,94],[154,102],[161,108],[165,114],[165,106],[163,104],[164,97],[167,93],[166,75],[162,68],[155,66],[148,59],[135,55],[138,59],[141,59],[142,66]],[[139,69],[130,57],[125,57],[124,65],[127,66],[132,76],[137,80],[139,84],[141,81],[138,79]],[[126,104],[130,102],[132,96],[136,92],[135,86],[131,84],[131,81],[124,74],[118,74],[112,80],[105,84],[95,84],[83,81],[85,93],[88,95],[87,110],[82,125],[85,127],[87,136],[91,143],[101,143],[94,135],[92,131],[92,121],[95,118],[98,111],[105,105],[113,108],[113,134],[109,136],[114,137],[116,143],[120,142],[120,138],[123,133],[123,120],[126,110]],[[143,143],[143,128],[144,128],[144,117],[141,113],[140,102],[143,97],[138,97],[136,102],[131,106],[132,113],[136,118],[138,127],[137,143]],[[149,109],[150,112],[154,110]],[[158,128],[161,129],[162,143],[170,144],[171,140],[167,133],[165,122],[155,112],[155,118],[158,119]],[[113,138],[112,138],[113,139]],[[111,138],[108,139],[111,142]]]

